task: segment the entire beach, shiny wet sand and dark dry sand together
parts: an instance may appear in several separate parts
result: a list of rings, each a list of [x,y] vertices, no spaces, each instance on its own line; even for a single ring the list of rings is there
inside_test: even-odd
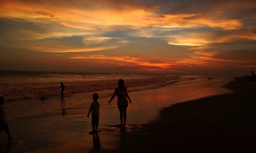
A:
[[[89,135],[89,105],[59,109],[8,121],[12,143],[0,133],[6,152],[187,152],[254,149],[254,82],[230,79],[177,82],[129,93],[127,128],[110,97],[99,99],[98,135]],[[64,97],[65,99],[65,97]],[[59,98],[60,104],[67,101]],[[62,102],[61,102],[62,101]],[[5,139],[6,138],[6,139]],[[6,140],[6,141],[5,141]]]

